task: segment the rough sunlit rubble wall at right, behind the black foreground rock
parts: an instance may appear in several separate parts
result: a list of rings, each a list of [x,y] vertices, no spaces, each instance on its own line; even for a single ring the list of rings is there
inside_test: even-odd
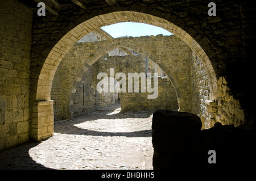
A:
[[[231,95],[225,78],[218,79],[217,91],[212,92],[209,74],[193,51],[191,77],[192,113],[201,117],[203,129],[211,128],[217,122],[233,124],[236,127],[244,123],[245,115],[241,104]]]

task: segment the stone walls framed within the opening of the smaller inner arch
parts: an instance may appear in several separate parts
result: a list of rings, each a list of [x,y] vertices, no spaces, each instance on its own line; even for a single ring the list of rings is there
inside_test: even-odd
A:
[[[158,108],[168,109],[168,110],[177,110],[178,103],[177,97],[175,94],[174,87],[171,85],[171,82],[167,77],[159,77],[158,78],[158,98],[154,100],[150,100],[147,98],[147,91],[145,93],[141,92],[141,80],[139,82],[139,92],[127,92],[128,83],[126,82],[126,92],[98,92],[96,89],[96,85],[101,80],[97,80],[97,73],[104,72],[108,75],[110,74],[110,69],[114,69],[114,75],[122,72],[126,74],[126,81],[128,81],[127,73],[144,73],[146,58],[144,56],[109,56],[108,60],[105,60],[105,57],[101,57],[99,60],[94,62],[92,66],[88,68],[88,71],[84,73],[81,81],[78,83],[77,90],[75,94],[73,94],[73,101],[70,104],[69,108],[71,109],[71,116],[82,115],[84,113],[88,113],[90,107],[93,107],[94,110],[97,108],[102,108],[105,106],[113,105],[117,102],[121,102],[121,111],[143,111],[143,110],[155,110]],[[111,64],[110,64],[111,63]],[[152,62],[150,62],[152,63]],[[152,65],[150,65],[152,67]],[[86,89],[82,89],[84,87],[84,83],[86,84],[86,78],[88,75],[92,75],[92,81],[87,80],[89,83],[88,86],[85,85]],[[108,76],[109,77],[109,76]],[[153,78],[152,78],[153,79]],[[134,81],[133,81],[134,85]],[[163,87],[164,86],[164,87]],[[89,88],[89,89],[88,89]],[[82,104],[81,92],[83,90],[88,90],[88,92],[83,92],[86,96],[86,100],[88,100],[87,105]],[[80,92],[80,93],[79,93]],[[92,95],[92,96],[90,96]],[[120,100],[121,99],[121,100]],[[72,100],[72,99],[71,99]],[[168,100],[164,102],[164,100]],[[80,104],[80,105],[79,105]],[[86,110],[83,110],[85,108]],[[88,111],[87,111],[88,109]]]

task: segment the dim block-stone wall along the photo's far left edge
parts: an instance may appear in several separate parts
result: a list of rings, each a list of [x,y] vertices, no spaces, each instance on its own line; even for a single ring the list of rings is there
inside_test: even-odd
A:
[[[27,141],[32,10],[0,1],[0,150]]]

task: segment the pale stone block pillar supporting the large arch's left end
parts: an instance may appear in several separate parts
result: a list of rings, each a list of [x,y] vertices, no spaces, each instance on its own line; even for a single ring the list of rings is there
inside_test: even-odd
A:
[[[53,100],[38,101],[32,108],[30,137],[35,141],[53,136]]]

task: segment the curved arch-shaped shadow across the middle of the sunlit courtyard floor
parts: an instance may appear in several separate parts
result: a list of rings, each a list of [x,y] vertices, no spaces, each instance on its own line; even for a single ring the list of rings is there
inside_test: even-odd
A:
[[[88,113],[86,115],[76,116],[73,120],[69,121],[55,121],[54,127],[56,133],[63,134],[84,134],[91,136],[125,136],[125,137],[151,137],[152,130],[146,129],[143,131],[134,131],[134,132],[101,132],[101,131],[92,131],[84,128],[77,128],[75,124],[84,123],[86,121],[94,121],[100,119],[134,119],[134,118],[150,118],[154,111],[127,111],[120,112],[120,104],[114,104],[112,106],[100,108],[97,111]],[[113,114],[112,114],[113,113]]]

